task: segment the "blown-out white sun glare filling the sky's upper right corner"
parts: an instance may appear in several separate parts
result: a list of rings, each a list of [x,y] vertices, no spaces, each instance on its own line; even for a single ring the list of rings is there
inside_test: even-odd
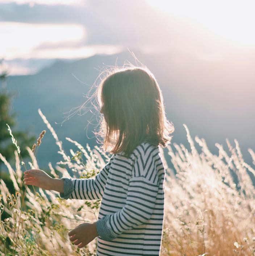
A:
[[[255,48],[253,0],[147,0],[158,10],[187,20],[231,44]]]

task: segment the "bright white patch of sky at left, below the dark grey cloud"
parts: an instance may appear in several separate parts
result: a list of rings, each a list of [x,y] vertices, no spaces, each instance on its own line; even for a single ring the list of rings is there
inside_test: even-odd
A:
[[[85,37],[85,28],[79,24],[29,24],[0,22],[0,56],[6,60],[25,57],[44,44],[75,44]]]

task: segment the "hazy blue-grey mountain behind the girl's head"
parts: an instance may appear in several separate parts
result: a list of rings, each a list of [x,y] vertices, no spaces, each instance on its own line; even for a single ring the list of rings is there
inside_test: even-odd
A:
[[[228,151],[225,138],[230,139],[233,146],[236,138],[244,160],[252,163],[247,149],[255,150],[254,56],[203,61],[176,50],[164,54],[134,53],[155,75],[162,89],[167,118],[175,126],[172,144],[183,143],[190,149],[183,127],[185,123],[193,139],[195,135],[205,138],[214,154],[217,154],[216,142],[223,144]],[[82,116],[76,114],[63,126],[55,122],[61,123],[67,116],[64,112],[80,106],[86,100],[83,94],[88,93],[101,68],[105,65],[115,66],[116,62],[122,66],[125,61],[135,64],[133,56],[126,51],[114,55],[95,55],[73,62],[56,61],[34,75],[8,77],[8,90],[18,93],[12,107],[18,113],[19,128],[31,131],[36,136],[46,130],[38,151],[40,168],[47,167],[48,162],[55,166],[62,157],[57,153],[58,146],[39,116],[38,109],[53,126],[67,153],[70,153],[70,147],[74,151],[77,148],[66,141],[66,137],[84,147],[86,143],[91,148],[99,146],[92,133],[99,128],[98,114],[93,115],[90,111]],[[96,112],[92,105],[91,111]],[[88,125],[89,120],[93,124]],[[171,164],[167,154],[166,158]]]

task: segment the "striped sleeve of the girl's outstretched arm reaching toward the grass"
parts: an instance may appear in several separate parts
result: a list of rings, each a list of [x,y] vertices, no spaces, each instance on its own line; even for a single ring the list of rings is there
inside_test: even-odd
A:
[[[114,154],[104,168],[95,176],[89,179],[70,179],[62,177],[64,180],[64,192],[59,193],[63,199],[101,199],[103,197],[104,188],[110,165],[114,159]]]

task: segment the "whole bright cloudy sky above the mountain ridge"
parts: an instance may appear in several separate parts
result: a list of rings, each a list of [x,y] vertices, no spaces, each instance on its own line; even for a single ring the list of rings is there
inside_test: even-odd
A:
[[[204,60],[255,51],[253,0],[0,0],[1,69],[55,58],[180,50]]]

